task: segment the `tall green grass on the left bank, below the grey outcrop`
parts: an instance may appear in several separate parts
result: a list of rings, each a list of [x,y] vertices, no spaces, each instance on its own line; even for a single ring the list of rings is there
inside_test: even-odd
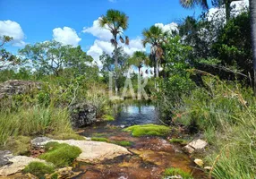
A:
[[[55,107],[19,107],[0,111],[0,145],[11,136],[73,132],[67,110]]]

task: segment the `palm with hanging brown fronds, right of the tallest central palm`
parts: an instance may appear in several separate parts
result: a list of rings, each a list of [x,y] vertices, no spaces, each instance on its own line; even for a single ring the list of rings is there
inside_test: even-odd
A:
[[[151,46],[150,59],[154,64],[154,76],[159,76],[159,60],[163,55],[163,48],[161,47],[162,42],[166,38],[166,32],[158,26],[151,26],[149,30],[145,29],[142,31],[143,39],[142,44],[146,47],[147,44]]]

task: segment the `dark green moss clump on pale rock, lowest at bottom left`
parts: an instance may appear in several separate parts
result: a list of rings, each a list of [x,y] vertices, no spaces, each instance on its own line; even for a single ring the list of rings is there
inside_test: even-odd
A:
[[[55,172],[54,166],[44,164],[42,162],[31,162],[23,170],[25,174],[32,174],[38,176],[38,178],[45,178],[46,174],[53,174]]]

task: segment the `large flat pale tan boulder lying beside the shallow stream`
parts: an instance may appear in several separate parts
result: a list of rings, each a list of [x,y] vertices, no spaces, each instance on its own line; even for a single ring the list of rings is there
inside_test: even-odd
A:
[[[34,141],[37,141],[35,139]],[[88,163],[99,163],[105,159],[113,159],[118,156],[131,154],[126,148],[102,141],[75,141],[75,140],[49,140],[41,144],[46,145],[47,142],[56,141],[76,146],[81,149],[81,154],[77,161]]]

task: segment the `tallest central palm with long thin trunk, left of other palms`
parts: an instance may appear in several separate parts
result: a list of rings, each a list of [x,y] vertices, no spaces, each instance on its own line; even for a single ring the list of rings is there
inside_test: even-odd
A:
[[[117,36],[119,35],[119,39],[122,43],[124,43],[124,38],[121,35],[124,35],[123,30],[128,28],[128,16],[125,13],[122,13],[117,10],[110,9],[107,11],[106,15],[103,15],[99,19],[99,25],[101,28],[107,29],[113,35],[113,38],[110,40],[111,44],[115,47],[114,50],[114,58],[115,58],[115,95],[117,95],[117,68],[118,68],[118,56],[117,48]],[[129,45],[129,38],[125,36],[125,44]]]

